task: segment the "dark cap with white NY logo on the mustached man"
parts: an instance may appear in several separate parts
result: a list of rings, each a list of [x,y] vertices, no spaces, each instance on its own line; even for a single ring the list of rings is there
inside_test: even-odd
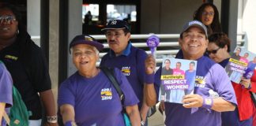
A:
[[[101,31],[106,31],[108,29],[129,29],[129,24],[125,20],[110,20],[107,23],[106,28],[101,29]]]

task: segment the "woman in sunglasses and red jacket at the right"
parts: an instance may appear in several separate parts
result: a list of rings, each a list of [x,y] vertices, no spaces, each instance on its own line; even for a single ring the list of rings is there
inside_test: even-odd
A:
[[[207,54],[221,66],[228,64],[230,55],[230,39],[224,33],[213,33],[209,36]],[[256,87],[256,82],[250,79],[242,79],[240,83],[232,82],[238,106],[235,111],[221,113],[222,126],[252,126],[252,115],[254,103],[250,98],[250,91],[256,92],[252,87]]]

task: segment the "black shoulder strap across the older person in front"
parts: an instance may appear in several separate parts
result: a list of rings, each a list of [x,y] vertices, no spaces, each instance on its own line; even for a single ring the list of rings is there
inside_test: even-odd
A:
[[[100,69],[104,72],[104,74],[107,76],[107,78],[111,81],[113,86],[115,87],[115,90],[119,93],[120,100],[122,102],[122,106],[124,103],[124,95],[122,93],[121,88],[119,87],[119,83],[116,80],[114,76],[114,69],[106,68],[106,67],[100,67]]]

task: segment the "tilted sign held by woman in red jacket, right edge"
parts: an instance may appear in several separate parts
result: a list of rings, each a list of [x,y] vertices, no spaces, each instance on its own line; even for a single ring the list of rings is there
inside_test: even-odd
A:
[[[225,67],[232,82],[240,83],[243,77],[250,79],[256,66],[256,54],[237,46]]]

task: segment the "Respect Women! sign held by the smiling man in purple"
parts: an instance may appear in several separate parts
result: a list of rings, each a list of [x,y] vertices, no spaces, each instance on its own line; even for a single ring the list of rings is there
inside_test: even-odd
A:
[[[197,61],[165,57],[162,63],[159,100],[182,103],[183,96],[193,94]]]

